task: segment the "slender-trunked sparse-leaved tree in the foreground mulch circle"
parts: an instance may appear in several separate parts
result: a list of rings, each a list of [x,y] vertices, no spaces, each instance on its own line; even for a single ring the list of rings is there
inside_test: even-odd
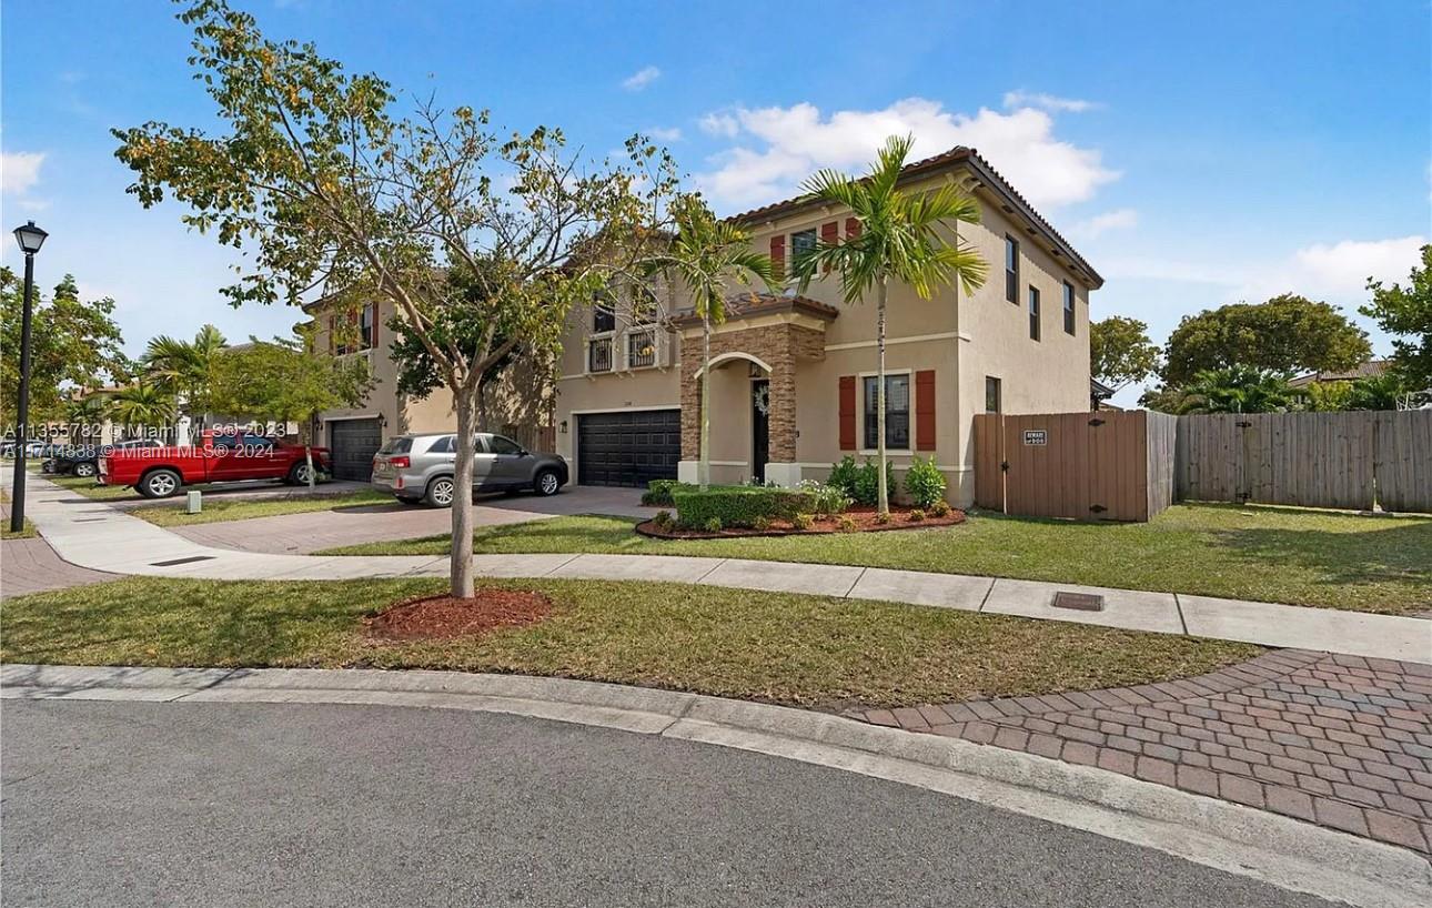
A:
[[[627,143],[636,168],[583,165],[561,130],[500,135],[488,115],[420,103],[397,116],[377,74],[348,74],[311,43],[272,42],[223,0],[193,0],[196,77],[221,133],[146,123],[115,130],[130,186],[185,223],[249,248],[223,289],[235,305],[328,295],[392,302],[453,392],[457,417],[451,591],[473,596],[474,417],[483,375],[518,341],[558,347],[566,312],[630,262],[636,228],[670,186],[664,155]],[[653,163],[654,162],[654,163]],[[640,180],[640,166],[659,179]],[[465,265],[475,298],[447,279]]]

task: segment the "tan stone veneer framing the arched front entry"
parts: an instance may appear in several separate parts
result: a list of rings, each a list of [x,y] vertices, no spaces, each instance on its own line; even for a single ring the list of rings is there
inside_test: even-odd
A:
[[[796,359],[823,359],[825,334],[803,325],[762,325],[712,335],[712,358],[749,354],[770,365],[770,463],[796,460]],[[700,457],[700,332],[682,339],[682,460]],[[720,368],[720,367],[717,367]]]

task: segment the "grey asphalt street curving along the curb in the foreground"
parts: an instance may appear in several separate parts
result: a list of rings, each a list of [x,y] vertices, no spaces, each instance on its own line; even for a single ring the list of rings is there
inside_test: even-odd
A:
[[[7,905],[1326,905],[765,755],[484,713],[4,702]]]

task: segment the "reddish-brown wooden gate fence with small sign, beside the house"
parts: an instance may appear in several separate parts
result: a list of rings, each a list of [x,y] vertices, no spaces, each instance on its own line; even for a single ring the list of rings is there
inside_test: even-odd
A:
[[[1171,417],[975,417],[975,504],[1005,514],[1148,520],[1173,500]]]

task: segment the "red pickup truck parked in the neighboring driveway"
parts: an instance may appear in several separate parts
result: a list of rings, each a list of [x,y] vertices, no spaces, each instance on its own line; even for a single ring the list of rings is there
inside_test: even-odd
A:
[[[328,473],[328,450],[311,448],[314,468]],[[146,498],[178,494],[198,483],[284,480],[308,483],[304,445],[284,444],[262,435],[225,435],[205,431],[199,444],[160,448],[116,448],[99,458],[100,486],[133,486]]]

